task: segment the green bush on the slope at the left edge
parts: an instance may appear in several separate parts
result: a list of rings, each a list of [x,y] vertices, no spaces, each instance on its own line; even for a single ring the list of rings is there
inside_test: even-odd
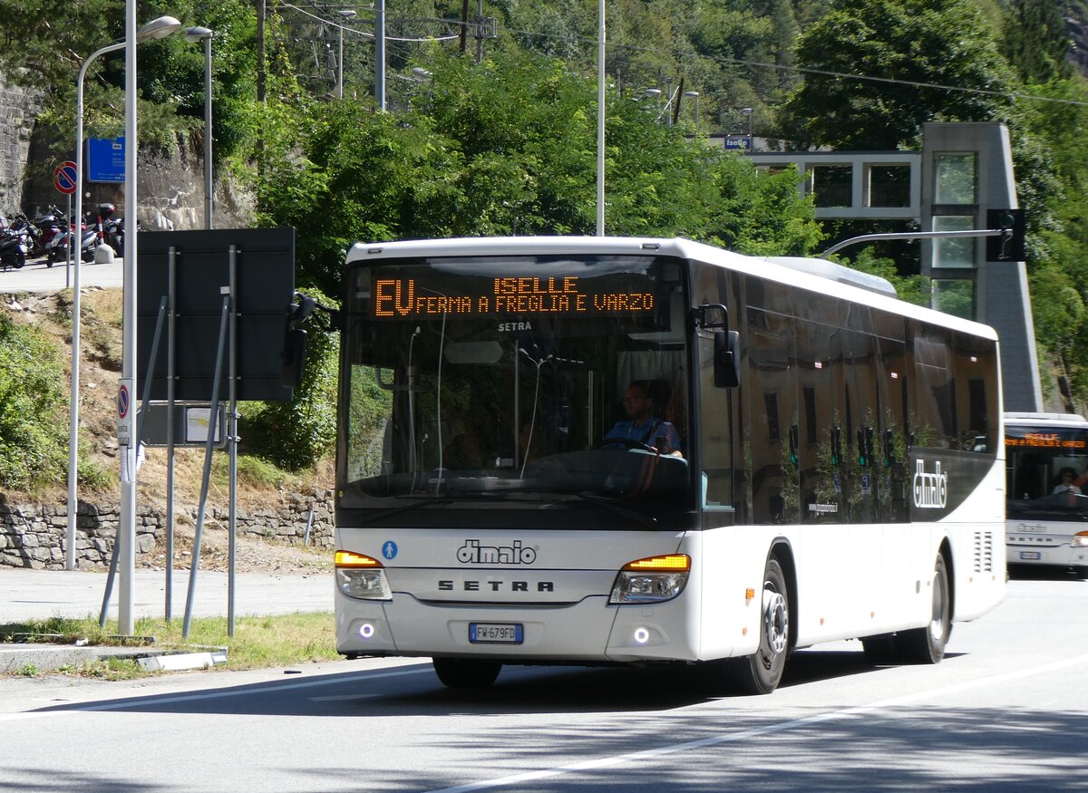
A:
[[[60,351],[34,327],[0,314],[0,482],[34,491],[64,482],[67,422]]]

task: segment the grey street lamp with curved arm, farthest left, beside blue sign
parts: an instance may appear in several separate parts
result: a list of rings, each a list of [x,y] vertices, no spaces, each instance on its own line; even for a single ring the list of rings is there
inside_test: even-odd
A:
[[[136,32],[136,44],[164,38],[182,26],[173,16],[159,16],[151,20]],[[95,50],[79,67],[79,76],[75,84],[75,219],[83,222],[83,82],[91,62],[107,52],[115,52],[126,46],[121,39]],[[125,139],[125,146],[135,146],[135,140]],[[126,224],[135,226],[132,219]],[[135,228],[133,230],[135,231]],[[79,225],[76,224],[75,238],[79,239]],[[71,395],[71,428],[69,433],[69,508],[67,508],[67,552],[64,567],[75,569],[75,510],[76,481],[78,479],[78,436],[79,436],[79,243],[76,243],[75,269],[72,278],[72,395]]]

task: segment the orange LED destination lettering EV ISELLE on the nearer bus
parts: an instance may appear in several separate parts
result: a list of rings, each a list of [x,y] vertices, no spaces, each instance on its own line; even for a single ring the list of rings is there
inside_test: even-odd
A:
[[[645,278],[635,276],[639,285]],[[611,283],[604,283],[611,282]],[[415,278],[374,278],[375,319],[412,319],[442,314],[644,314],[654,310],[654,296],[638,288],[620,290],[614,278],[517,277],[472,278],[458,282],[459,295],[440,294]],[[446,290],[443,289],[443,293]]]

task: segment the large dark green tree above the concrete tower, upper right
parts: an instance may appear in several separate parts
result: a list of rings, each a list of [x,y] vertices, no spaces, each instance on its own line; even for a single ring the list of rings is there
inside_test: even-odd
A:
[[[841,149],[913,147],[927,121],[1004,117],[1015,85],[970,0],[840,0],[801,34],[798,65],[879,80],[808,72],[786,103],[799,139]]]

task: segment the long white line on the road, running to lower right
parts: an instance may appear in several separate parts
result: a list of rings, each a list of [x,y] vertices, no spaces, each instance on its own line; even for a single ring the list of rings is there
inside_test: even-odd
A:
[[[598,757],[592,760],[572,763],[567,766],[558,766],[556,768],[545,768],[539,771],[526,771],[523,773],[515,773],[509,777],[500,777],[498,779],[487,779],[487,780],[482,780],[480,782],[470,782],[469,784],[457,785],[456,788],[442,788],[441,790],[429,791],[429,793],[467,793],[468,791],[485,790],[489,788],[506,788],[508,785],[520,784],[522,782],[533,782],[542,779],[562,777],[570,773],[578,773],[580,771],[610,768],[613,766],[619,766],[625,763],[635,763],[639,760],[646,760],[654,757],[672,755],[680,752],[689,752],[691,749],[705,748],[707,746],[718,746],[725,743],[735,743],[738,741],[744,741],[750,738],[758,738],[761,735],[769,735],[776,732],[786,732],[787,730],[794,730],[801,727],[807,727],[808,724],[816,724],[825,721],[832,721],[836,719],[845,719],[852,716],[861,716],[864,714],[869,714],[876,710],[882,710],[885,708],[891,708],[899,705],[908,705],[911,703],[915,703],[920,699],[929,699],[931,697],[941,697],[950,694],[959,694],[964,691],[970,691],[973,689],[984,689],[989,685],[999,685],[1001,683],[1006,683],[1012,680],[1019,680],[1022,678],[1031,678],[1039,674],[1047,674],[1049,672],[1053,672],[1059,669],[1064,669],[1066,667],[1077,666],[1079,664],[1088,664],[1088,655],[1075,656],[1073,658],[1066,658],[1065,660],[1054,661],[1052,664],[1044,664],[1042,666],[1031,667],[1029,669],[1022,669],[1016,672],[994,674],[993,677],[981,678],[979,680],[973,680],[966,683],[957,683],[956,685],[949,685],[943,689],[924,691],[915,694],[906,694],[904,696],[893,697],[891,699],[881,699],[879,702],[870,703],[868,705],[858,705],[855,707],[844,708],[842,710],[831,710],[829,713],[815,714],[813,716],[806,716],[805,718],[793,719],[791,721],[779,721],[774,724],[767,724],[766,727],[756,727],[751,730],[742,730],[740,732],[732,732],[726,735],[714,735],[712,738],[704,738],[698,741],[684,741],[683,743],[658,746],[657,748],[643,749],[641,752],[630,752],[622,755],[613,755],[610,757]]]

